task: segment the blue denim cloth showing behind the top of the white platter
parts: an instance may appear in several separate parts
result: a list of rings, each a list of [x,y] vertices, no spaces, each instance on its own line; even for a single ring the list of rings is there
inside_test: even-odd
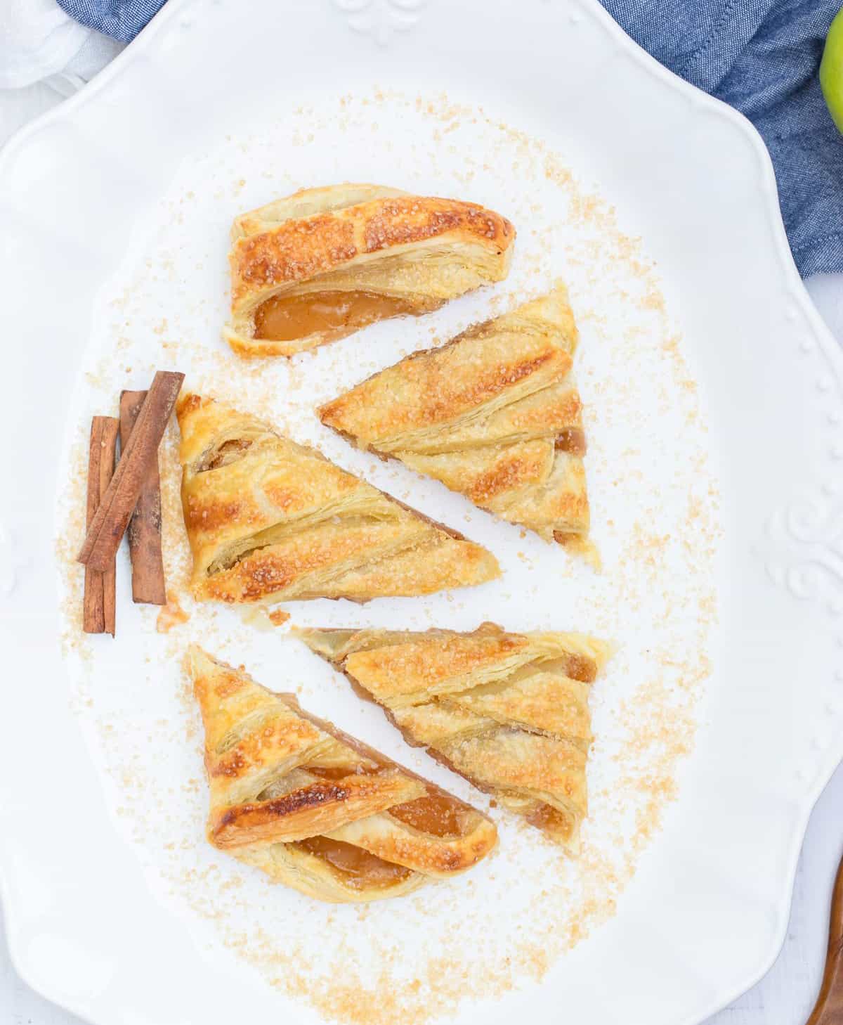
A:
[[[58,0],[77,20],[124,42],[165,2]],[[600,2],[658,60],[736,107],[759,130],[803,277],[843,271],[843,135],[817,78],[823,43],[843,0]]]

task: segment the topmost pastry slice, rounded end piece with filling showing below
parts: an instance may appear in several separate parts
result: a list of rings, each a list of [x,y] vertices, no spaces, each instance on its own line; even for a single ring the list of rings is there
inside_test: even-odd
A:
[[[382,186],[304,189],[238,217],[231,320],[241,356],[292,356],[423,314],[509,271],[515,230],[475,203]]]

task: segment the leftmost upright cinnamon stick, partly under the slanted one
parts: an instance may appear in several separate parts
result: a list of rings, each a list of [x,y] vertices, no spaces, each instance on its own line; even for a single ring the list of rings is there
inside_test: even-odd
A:
[[[88,495],[86,522],[90,527],[114,474],[118,421],[113,416],[94,416],[88,443]],[[82,629],[86,633],[115,633],[115,560],[100,572],[85,567]]]

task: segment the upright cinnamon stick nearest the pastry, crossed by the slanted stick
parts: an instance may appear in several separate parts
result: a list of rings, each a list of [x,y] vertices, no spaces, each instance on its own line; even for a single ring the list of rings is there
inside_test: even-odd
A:
[[[145,398],[145,392],[120,393],[120,448],[123,452],[128,447],[132,428]],[[161,554],[161,479],[158,452],[146,469],[137,505],[126,528],[126,536],[132,561],[132,601],[166,605],[167,591]]]

